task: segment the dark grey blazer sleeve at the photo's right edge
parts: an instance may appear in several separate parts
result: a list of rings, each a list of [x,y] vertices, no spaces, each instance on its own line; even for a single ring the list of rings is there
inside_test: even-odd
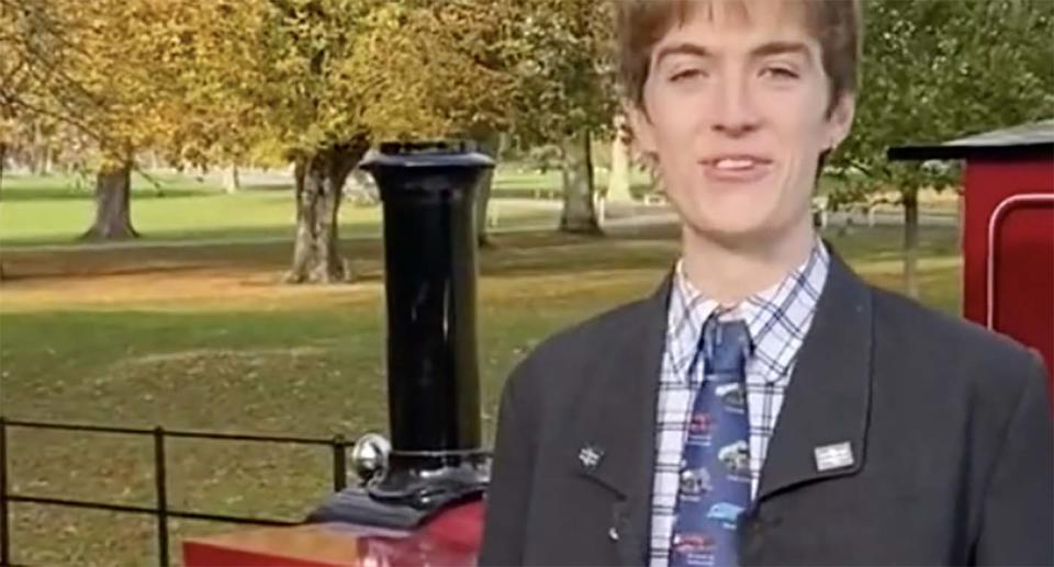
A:
[[[1054,565],[1054,426],[1046,372],[1036,359],[996,455],[977,565]]]

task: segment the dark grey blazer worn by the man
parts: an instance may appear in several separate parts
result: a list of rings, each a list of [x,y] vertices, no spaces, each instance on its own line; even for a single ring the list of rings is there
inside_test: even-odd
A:
[[[551,338],[509,377],[481,565],[648,562],[670,286]],[[834,254],[817,309],[741,517],[741,563],[1054,564],[1038,356],[868,286]],[[853,463],[818,470],[815,449],[841,442]]]

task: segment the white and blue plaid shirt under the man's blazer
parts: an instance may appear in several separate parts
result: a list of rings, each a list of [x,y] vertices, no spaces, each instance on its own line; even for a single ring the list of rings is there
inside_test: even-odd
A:
[[[743,319],[750,329],[753,350],[747,361],[747,407],[750,419],[751,495],[758,494],[761,466],[765,461],[784,392],[805,334],[812,324],[830,256],[817,240],[806,262],[782,282],[738,306],[722,310],[722,319]],[[651,566],[665,567],[673,531],[673,508],[677,498],[681,452],[694,396],[703,381],[702,360],[693,375],[687,372],[695,356],[703,324],[719,309],[714,299],[703,297],[677,263],[670,296],[666,348],[659,382],[655,424],[655,478],[651,504]]]

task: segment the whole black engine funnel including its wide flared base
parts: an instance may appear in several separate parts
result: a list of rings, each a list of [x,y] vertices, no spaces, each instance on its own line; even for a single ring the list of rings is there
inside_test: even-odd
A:
[[[486,484],[475,189],[494,161],[463,144],[384,144],[359,167],[383,203],[391,454],[309,521],[413,528]]]

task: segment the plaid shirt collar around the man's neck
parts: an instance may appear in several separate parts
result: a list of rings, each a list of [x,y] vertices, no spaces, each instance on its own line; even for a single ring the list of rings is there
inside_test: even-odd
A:
[[[754,358],[765,364],[766,377],[777,379],[794,364],[829,269],[830,253],[817,239],[805,262],[782,281],[726,309],[729,318],[747,321]],[[720,304],[692,285],[684,261],[679,261],[666,321],[666,350],[677,376],[692,378],[685,371],[695,356],[703,324],[718,309]]]

